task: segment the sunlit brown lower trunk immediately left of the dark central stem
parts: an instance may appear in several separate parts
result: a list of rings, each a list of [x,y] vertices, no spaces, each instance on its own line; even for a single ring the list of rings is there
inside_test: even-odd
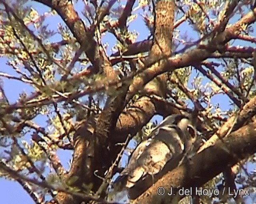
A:
[[[86,122],[81,122],[78,124],[78,129],[74,134],[74,153],[73,153],[73,162],[70,167],[70,171],[65,175],[65,179],[75,179],[75,182],[72,185],[77,188],[84,189],[84,184],[87,184],[88,188],[85,188],[87,192],[91,189],[89,186],[93,183],[94,169],[94,127],[96,121],[92,118],[88,118]],[[58,192],[55,196],[55,200],[59,204],[70,204],[82,202],[81,197],[74,197],[66,192]]]

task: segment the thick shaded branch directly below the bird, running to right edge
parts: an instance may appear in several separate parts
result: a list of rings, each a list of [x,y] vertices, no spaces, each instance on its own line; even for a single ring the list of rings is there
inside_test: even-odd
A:
[[[255,135],[256,123],[250,123],[231,133],[223,141],[218,140],[214,146],[195,155],[173,171],[168,171],[132,204],[170,203],[173,196],[168,196],[167,193],[171,187],[173,193],[182,187],[192,187],[192,190],[195,190],[195,187],[202,186],[226,167],[232,167],[238,161],[255,153]],[[163,196],[156,194],[160,186],[166,190]]]

